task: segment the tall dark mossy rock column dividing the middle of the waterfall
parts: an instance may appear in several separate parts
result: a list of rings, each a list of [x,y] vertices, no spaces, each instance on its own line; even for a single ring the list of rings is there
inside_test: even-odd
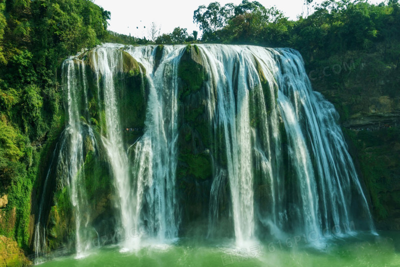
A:
[[[211,129],[206,115],[206,72],[200,50],[186,46],[178,66],[179,137],[177,186],[183,205],[182,231],[206,227],[212,183]],[[194,226],[196,225],[196,226]]]

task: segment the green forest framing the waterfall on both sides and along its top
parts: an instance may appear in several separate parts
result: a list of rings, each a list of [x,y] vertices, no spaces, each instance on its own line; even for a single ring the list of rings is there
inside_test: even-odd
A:
[[[313,3],[307,0],[305,4],[311,7]],[[0,0],[0,235],[30,252],[31,209],[54,139],[64,125],[61,62],[101,42],[297,49],[314,89],[340,114],[375,220],[390,228],[387,221],[400,217],[390,213],[400,205],[400,158],[394,150],[400,143],[396,122],[400,113],[396,104],[400,95],[400,4],[398,0],[378,5],[366,0],[326,0],[313,9],[292,21],[275,7],[257,1],[212,2],[193,12],[201,37],[196,31],[176,27],[150,41],[108,31],[111,14],[90,0]],[[360,114],[371,117],[371,113],[386,116],[359,122]],[[372,127],[376,130],[369,130]],[[400,228],[400,222],[392,227]]]

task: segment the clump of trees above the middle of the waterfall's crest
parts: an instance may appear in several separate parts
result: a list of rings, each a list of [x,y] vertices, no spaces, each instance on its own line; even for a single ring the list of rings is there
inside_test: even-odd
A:
[[[288,42],[293,22],[275,7],[243,0],[239,5],[211,3],[194,11],[193,21],[207,42],[280,45]]]

